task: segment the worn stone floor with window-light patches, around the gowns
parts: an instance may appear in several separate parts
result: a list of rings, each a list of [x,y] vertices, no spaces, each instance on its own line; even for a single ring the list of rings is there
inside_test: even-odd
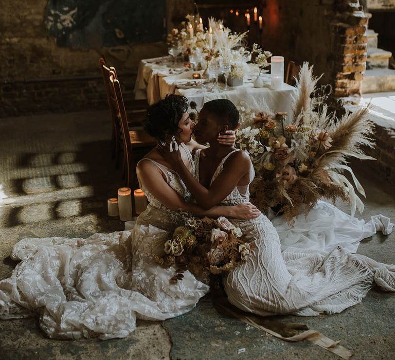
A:
[[[121,184],[109,156],[107,112],[0,119],[0,279],[11,274],[12,246],[26,236],[87,237],[121,230],[106,216],[106,199]],[[357,165],[367,193],[362,216],[395,219],[395,194],[374,173]],[[340,205],[342,209],[347,207]],[[358,252],[395,263],[395,235],[377,235]],[[354,351],[355,359],[392,359],[395,296],[372,290],[342,314],[284,322],[306,323]],[[138,321],[124,339],[60,341],[41,332],[35,318],[0,321],[2,359],[330,359],[334,354],[310,343],[285,343],[219,314],[210,299],[190,313],[164,322]]]

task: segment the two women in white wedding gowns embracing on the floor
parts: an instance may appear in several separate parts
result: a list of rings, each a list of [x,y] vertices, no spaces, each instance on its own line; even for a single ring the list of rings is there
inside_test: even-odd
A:
[[[293,228],[280,217],[272,223],[248,202],[255,175],[248,154],[218,141],[219,134],[236,129],[236,106],[225,99],[207,102],[196,126],[187,111],[187,99],[177,95],[147,111],[145,128],[158,146],[137,165],[149,205],[135,227],[88,239],[21,240],[12,258],[22,261],[0,282],[1,318],[35,314],[50,337],[105,339],[127,336],[136,317],[165,320],[190,311],[208,285],[189,271],[173,283],[175,268],[155,261],[180,209],[233,218],[254,241],[247,260],[223,275],[229,301],[243,311],[333,314],[360,302],[374,283],[395,291],[395,266],[352,253],[355,243],[379,227],[378,219],[365,224],[320,202]]]

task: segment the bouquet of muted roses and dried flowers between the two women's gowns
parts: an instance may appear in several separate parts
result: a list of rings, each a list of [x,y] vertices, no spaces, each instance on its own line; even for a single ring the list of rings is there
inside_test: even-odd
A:
[[[182,280],[185,270],[207,282],[210,274],[228,272],[247,259],[253,244],[243,240],[241,229],[225,217],[199,219],[188,213],[181,217],[184,225],[165,242],[164,255],[155,257],[161,266],[175,266],[172,282]]]

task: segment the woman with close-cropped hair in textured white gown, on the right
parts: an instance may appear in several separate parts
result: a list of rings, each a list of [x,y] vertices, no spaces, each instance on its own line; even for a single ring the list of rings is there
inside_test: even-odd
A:
[[[197,141],[209,142],[210,147],[196,151],[195,176],[179,154],[165,147],[160,150],[204,208],[248,201],[248,185],[255,175],[248,154],[216,142],[218,133],[235,129],[238,121],[238,110],[229,100],[204,104],[194,133]],[[373,284],[395,291],[395,265],[351,254],[340,246],[331,251],[289,247],[281,252],[278,233],[263,214],[236,220],[235,226],[255,243],[247,260],[223,280],[229,301],[241,310],[259,315],[333,314],[360,302]]]

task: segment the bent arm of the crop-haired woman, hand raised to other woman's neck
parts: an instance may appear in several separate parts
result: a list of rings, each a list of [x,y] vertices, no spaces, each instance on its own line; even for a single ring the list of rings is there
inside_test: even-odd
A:
[[[166,154],[167,160],[172,164],[173,169],[182,178],[188,190],[196,199],[197,204],[204,209],[210,209],[228,196],[233,189],[239,184],[241,178],[246,175],[250,169],[250,159],[246,152],[238,151],[230,155],[226,161],[226,166],[211,184],[209,189],[196,181],[193,175],[188,171],[182,161],[180,161],[179,154]],[[167,156],[169,155],[169,156]]]

